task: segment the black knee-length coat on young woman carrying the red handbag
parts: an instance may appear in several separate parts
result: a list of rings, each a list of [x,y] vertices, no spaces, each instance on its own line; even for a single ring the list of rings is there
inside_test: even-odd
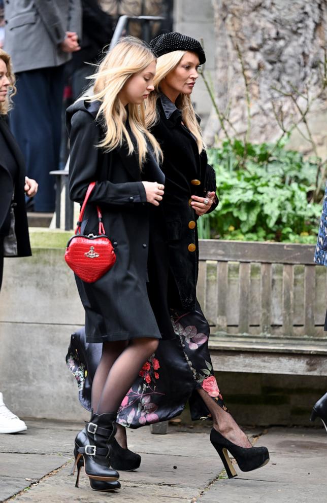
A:
[[[96,148],[103,131],[95,121],[100,103],[79,101],[67,110],[71,141],[70,197],[82,202],[96,181],[82,223],[82,234],[97,234],[95,206],[103,213],[106,234],[116,253],[112,269],[95,283],[76,277],[85,309],[88,342],[160,338],[147,295],[149,215],[141,171],[135,154],[125,147],[110,153]],[[147,169],[161,173],[154,158]]]

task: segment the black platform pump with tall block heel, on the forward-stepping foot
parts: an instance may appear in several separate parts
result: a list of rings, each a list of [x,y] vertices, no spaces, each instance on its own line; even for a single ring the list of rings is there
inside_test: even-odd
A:
[[[239,447],[233,442],[225,439],[220,433],[218,433],[214,428],[212,428],[210,433],[210,442],[218,452],[221,461],[225,467],[228,479],[232,479],[237,476],[235,468],[232,464],[230,457],[228,456],[227,450],[235,458],[239,469],[242,472],[251,472],[257,468],[261,468],[269,461],[269,452],[267,447]]]

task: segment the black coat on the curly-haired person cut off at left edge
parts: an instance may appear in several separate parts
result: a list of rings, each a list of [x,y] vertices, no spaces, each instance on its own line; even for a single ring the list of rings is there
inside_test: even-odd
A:
[[[18,257],[28,257],[31,255],[29,237],[28,237],[28,224],[25,207],[25,163],[23,155],[18,147],[18,143],[12,135],[6,118],[0,115],[0,134],[3,135],[8,147],[13,153],[18,166],[18,178],[15,185],[14,193],[14,212],[15,212],[15,232],[17,238]],[[1,157],[0,152],[0,229],[7,217],[10,204],[13,196],[13,181],[9,174],[7,166]]]

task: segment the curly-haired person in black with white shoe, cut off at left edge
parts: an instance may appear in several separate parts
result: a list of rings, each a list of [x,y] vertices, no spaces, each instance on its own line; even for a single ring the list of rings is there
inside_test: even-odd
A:
[[[10,56],[0,49],[0,290],[4,256],[31,255],[25,194],[33,197],[38,191],[36,181],[25,175],[24,159],[7,123],[9,94],[15,91]],[[25,429],[24,421],[6,407],[0,393],[0,433],[17,433]]]

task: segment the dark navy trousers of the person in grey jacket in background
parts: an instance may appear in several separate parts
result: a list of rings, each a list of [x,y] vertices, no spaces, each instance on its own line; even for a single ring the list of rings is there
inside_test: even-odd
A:
[[[35,211],[53,211],[54,177],[58,169],[64,65],[16,74],[17,94],[10,112],[10,128],[26,163],[27,175],[39,184]]]

